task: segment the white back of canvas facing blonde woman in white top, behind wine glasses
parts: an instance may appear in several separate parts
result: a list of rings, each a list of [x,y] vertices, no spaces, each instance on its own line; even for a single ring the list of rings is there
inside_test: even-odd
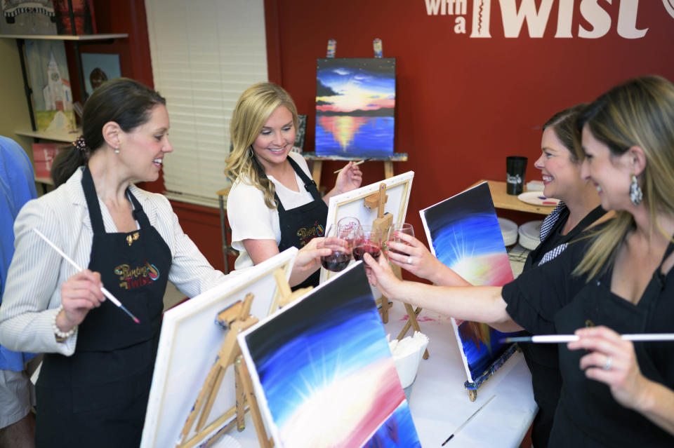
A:
[[[372,224],[377,217],[377,210],[366,208],[364,199],[371,194],[379,191],[380,184],[386,184],[386,196],[388,199],[384,206],[384,212],[393,215],[393,224],[405,222],[407,216],[407,203],[409,203],[409,194],[412,189],[412,179],[414,171],[404,172],[402,175],[389,177],[381,182],[375,182],[359,189],[338,194],[330,198],[328,204],[328,218],[326,229],[331,224],[337,222],[343,217],[356,217],[360,224]],[[329,279],[335,273],[321,268],[321,281]]]

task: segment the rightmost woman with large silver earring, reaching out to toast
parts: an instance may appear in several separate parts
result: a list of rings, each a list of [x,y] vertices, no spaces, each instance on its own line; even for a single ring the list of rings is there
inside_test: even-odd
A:
[[[583,111],[581,177],[616,216],[504,287],[402,282],[366,257],[383,294],[499,330],[576,333],[560,346],[562,391],[549,447],[674,445],[674,86],[628,81]],[[586,328],[588,327],[588,328]]]

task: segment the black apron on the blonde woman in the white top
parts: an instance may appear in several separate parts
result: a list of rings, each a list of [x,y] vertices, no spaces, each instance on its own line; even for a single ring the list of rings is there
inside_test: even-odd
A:
[[[316,188],[316,182],[310,179],[308,175],[300,168],[291,157],[287,160],[293,167],[293,170],[304,182],[304,188],[311,194],[313,201],[300,205],[299,207],[286,210],[279,199],[279,195],[274,193],[279,212],[279,227],[281,228],[281,241],[279,242],[279,252],[283,252],[289,247],[301,249],[317,236],[323,236],[325,233],[325,222],[328,219],[328,206],[321,198]],[[306,280],[296,285],[292,290],[300,287],[318,286],[321,270],[317,269]]]

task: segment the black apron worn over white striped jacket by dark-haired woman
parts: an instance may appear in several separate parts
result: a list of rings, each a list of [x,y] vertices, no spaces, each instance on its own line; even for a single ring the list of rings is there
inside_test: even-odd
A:
[[[136,315],[108,299],[79,325],[72,356],[44,356],[37,447],[138,447],[157,354],[171,250],[127,189],[140,229],[105,233],[91,172],[82,188],[93,229],[88,269]]]

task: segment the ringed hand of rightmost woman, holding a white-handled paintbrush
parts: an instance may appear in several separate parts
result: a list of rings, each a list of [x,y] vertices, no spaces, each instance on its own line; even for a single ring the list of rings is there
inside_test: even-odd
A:
[[[640,391],[649,382],[641,374],[634,345],[607,327],[576,330],[578,341],[569,342],[569,350],[584,348],[590,353],[581,358],[585,376],[611,388],[611,393],[624,407],[639,409]]]

